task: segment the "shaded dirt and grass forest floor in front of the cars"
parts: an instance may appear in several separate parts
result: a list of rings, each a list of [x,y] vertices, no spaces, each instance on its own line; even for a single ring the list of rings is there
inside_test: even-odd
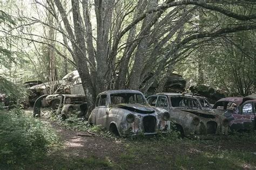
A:
[[[32,111],[26,111],[31,114]],[[214,140],[160,137],[78,136],[58,121],[40,118],[59,137],[25,169],[256,169],[256,132]]]

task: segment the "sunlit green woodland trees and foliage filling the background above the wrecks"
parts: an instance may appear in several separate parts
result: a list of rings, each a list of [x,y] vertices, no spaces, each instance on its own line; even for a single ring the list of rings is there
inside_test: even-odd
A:
[[[0,74],[55,81],[77,69],[89,104],[109,89],[163,91],[178,73],[246,96],[256,85],[256,2],[5,0]]]

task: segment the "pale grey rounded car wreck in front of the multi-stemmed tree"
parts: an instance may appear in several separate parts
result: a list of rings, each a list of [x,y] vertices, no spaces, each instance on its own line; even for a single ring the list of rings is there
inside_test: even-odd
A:
[[[89,123],[120,136],[156,134],[170,130],[170,114],[151,107],[137,90],[109,90],[97,97]]]

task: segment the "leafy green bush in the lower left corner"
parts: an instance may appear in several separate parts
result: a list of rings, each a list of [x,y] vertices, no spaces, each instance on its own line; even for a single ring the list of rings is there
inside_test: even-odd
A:
[[[46,123],[24,115],[19,109],[0,111],[0,165],[35,162],[56,144],[58,137]]]

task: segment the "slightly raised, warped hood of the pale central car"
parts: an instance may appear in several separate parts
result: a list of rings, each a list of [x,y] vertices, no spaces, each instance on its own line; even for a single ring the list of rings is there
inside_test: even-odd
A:
[[[155,112],[153,107],[141,104],[117,104],[115,107],[137,112],[139,114],[153,114]]]

